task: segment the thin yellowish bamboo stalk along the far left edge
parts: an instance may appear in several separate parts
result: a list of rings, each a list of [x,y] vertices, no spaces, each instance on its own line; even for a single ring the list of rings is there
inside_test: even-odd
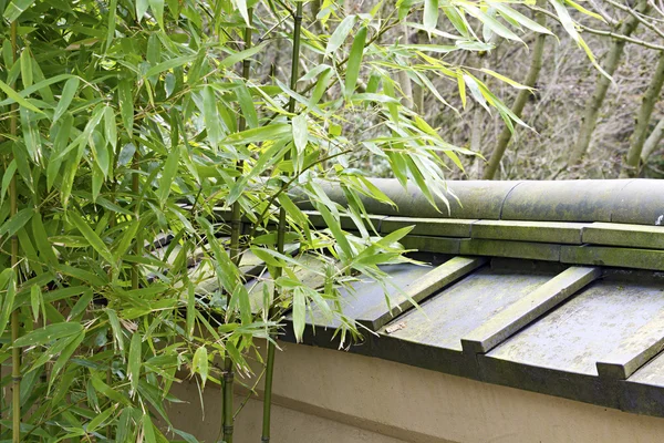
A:
[[[18,23],[14,20],[11,23],[11,51],[13,62],[19,61],[18,47],[17,47],[17,30]],[[15,83],[11,85],[15,89]],[[12,138],[15,140],[18,135],[17,126],[17,112],[18,105],[14,103],[11,105],[10,120],[9,120],[9,132]],[[9,184],[9,200],[10,218],[18,213],[18,194],[17,194],[17,175],[14,174]],[[11,237],[11,267],[14,270],[14,281],[11,285],[15,285],[19,279],[19,238],[15,234]],[[15,309],[11,312],[11,398],[12,398],[12,442],[19,443],[21,441],[21,348],[14,347],[13,342],[19,339],[20,336],[20,323],[19,323],[19,310]]]

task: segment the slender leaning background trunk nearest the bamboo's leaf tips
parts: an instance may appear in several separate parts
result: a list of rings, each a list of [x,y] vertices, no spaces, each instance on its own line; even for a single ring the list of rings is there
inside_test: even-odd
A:
[[[538,2],[539,6],[543,6],[543,3],[544,2],[541,0]],[[539,10],[535,14],[535,20],[542,27],[546,27],[547,24],[547,16]],[[523,82],[526,86],[535,87],[535,83],[539,78],[539,73],[542,69],[542,54],[544,52],[546,39],[547,34],[540,33],[537,35],[535,48],[532,50],[532,58],[530,59],[530,68],[528,69],[528,74],[526,75],[526,80]],[[511,110],[516,116],[521,117],[521,113],[523,112],[523,107],[526,106],[531,91],[529,90],[519,91],[517,100],[515,101]],[[509,130],[509,127],[505,126],[500,133],[500,136],[498,137],[498,143],[496,143],[496,147],[489,157],[489,163],[487,164],[487,168],[484,173],[485,179],[494,179],[496,171],[498,171],[498,166],[500,165],[500,161],[505,155],[505,151],[507,150],[507,145],[509,144],[512,132]]]

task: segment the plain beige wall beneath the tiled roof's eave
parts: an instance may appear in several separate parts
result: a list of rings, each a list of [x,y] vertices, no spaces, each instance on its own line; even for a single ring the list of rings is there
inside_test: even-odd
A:
[[[481,383],[385,360],[282,343],[273,388],[273,443],[661,442],[664,419]],[[215,387],[209,387],[215,388]],[[174,390],[187,404],[174,424],[206,442],[219,430],[219,391]],[[241,399],[238,396],[236,404]],[[261,403],[250,400],[236,442],[260,441]]]

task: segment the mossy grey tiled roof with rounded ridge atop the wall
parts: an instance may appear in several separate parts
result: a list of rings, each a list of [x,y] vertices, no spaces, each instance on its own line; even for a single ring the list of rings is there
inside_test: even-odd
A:
[[[405,246],[429,266],[383,268],[419,309],[394,289],[390,311],[372,281],[344,293],[374,332],[351,352],[664,416],[664,182],[449,182],[449,213],[374,183],[398,205],[366,202],[374,225],[415,225]],[[338,348],[321,321],[304,342]]]

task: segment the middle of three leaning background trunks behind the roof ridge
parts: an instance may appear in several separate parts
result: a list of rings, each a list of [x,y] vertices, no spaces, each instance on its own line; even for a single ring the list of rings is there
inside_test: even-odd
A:
[[[639,0],[636,3],[635,11],[637,13],[646,13],[650,9],[650,4],[647,0]],[[632,32],[639,25],[639,20],[629,16],[624,22],[621,24],[619,33],[622,35],[631,35]],[[609,53],[606,54],[606,61],[604,63],[604,71],[609,75],[613,75],[618,65],[620,64],[620,59],[622,58],[623,50],[625,48],[626,41],[624,40],[614,40]],[[581,130],[579,131],[579,136],[577,138],[577,143],[572,150],[570,158],[568,161],[568,165],[578,164],[585,152],[588,151],[588,146],[590,145],[590,141],[592,138],[592,133],[594,132],[595,125],[598,123],[598,114],[600,113],[600,109],[604,103],[604,97],[606,96],[606,91],[609,90],[609,85],[611,84],[611,80],[606,76],[599,74],[598,83],[595,85],[595,90],[592,96],[589,99],[585,104],[585,112],[583,113],[583,119],[581,123]]]

